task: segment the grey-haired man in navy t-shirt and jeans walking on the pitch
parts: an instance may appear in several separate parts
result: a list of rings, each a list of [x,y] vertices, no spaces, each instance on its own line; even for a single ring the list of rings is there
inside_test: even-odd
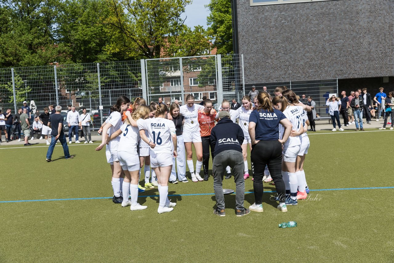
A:
[[[56,113],[51,114],[48,126],[51,127],[51,142],[46,152],[46,161],[52,162],[52,153],[55,148],[56,142],[59,140],[63,146],[63,152],[65,159],[72,159],[74,156],[69,153],[69,146],[67,145],[66,136],[63,132],[63,116],[60,114],[61,106],[56,106]]]

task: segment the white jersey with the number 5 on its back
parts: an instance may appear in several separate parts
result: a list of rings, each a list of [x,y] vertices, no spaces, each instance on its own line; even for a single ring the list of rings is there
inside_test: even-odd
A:
[[[138,155],[137,145],[139,140],[139,129],[130,124],[121,126],[121,135],[119,136],[118,151],[126,151],[128,153]]]

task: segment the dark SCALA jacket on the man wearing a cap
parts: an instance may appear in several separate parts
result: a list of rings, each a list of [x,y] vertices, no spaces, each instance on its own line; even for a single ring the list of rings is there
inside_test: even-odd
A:
[[[240,125],[225,117],[220,119],[211,131],[211,142],[215,148],[214,157],[226,150],[236,150],[242,153],[242,142],[244,139]]]

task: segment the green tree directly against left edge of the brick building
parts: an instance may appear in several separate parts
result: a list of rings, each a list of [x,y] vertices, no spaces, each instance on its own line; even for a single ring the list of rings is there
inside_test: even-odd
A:
[[[231,0],[211,0],[206,7],[210,11],[208,35],[214,39],[217,54],[232,54]]]

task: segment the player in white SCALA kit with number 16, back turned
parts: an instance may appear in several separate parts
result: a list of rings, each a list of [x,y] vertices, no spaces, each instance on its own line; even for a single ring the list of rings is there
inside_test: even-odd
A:
[[[168,200],[168,180],[173,166],[173,158],[177,158],[177,134],[173,121],[165,119],[167,106],[159,105],[155,118],[138,120],[139,135],[147,142],[145,131],[149,133],[151,146],[151,167],[156,173],[159,189],[159,207],[157,213],[173,211],[177,203]]]

